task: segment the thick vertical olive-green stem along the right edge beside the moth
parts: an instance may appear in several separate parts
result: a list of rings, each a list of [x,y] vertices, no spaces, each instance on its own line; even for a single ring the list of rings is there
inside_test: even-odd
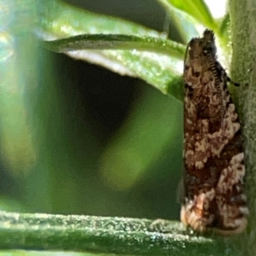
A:
[[[232,22],[232,78],[241,86],[236,92],[239,99],[246,156],[246,190],[250,216],[248,228],[239,244],[241,255],[254,256],[256,252],[256,0],[230,1]],[[242,254],[243,253],[243,254]]]

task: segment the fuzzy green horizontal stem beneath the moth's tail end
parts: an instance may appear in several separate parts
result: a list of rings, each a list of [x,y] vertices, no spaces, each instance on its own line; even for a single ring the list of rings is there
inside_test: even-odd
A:
[[[0,212],[1,249],[118,255],[237,255],[229,239],[199,237],[173,221]]]

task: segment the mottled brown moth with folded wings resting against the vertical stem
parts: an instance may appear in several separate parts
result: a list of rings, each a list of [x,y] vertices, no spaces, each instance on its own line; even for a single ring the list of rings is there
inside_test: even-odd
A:
[[[184,60],[184,200],[180,219],[229,236],[246,227],[241,125],[216,59],[214,33],[193,38]],[[236,84],[235,84],[236,85]]]

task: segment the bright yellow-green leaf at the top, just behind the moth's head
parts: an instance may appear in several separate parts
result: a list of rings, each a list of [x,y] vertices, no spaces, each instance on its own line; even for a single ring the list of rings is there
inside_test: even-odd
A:
[[[188,42],[195,36],[202,36],[202,25],[212,29],[216,35],[218,45],[218,56],[221,63],[228,68],[230,65],[230,35],[228,33],[229,15],[227,14],[222,22],[215,20],[203,0],[157,0],[164,6],[166,12],[175,22],[180,36],[184,42]],[[200,33],[198,33],[200,31]]]

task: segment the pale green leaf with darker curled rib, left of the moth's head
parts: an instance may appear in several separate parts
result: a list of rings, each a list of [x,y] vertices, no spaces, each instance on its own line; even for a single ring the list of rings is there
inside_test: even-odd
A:
[[[102,65],[121,75],[139,77],[163,93],[175,92],[170,87],[173,79],[176,81],[182,73],[185,46],[166,40],[161,33],[139,24],[87,12],[65,3],[48,2],[42,13],[38,33],[41,38],[66,38],[45,42],[46,47],[66,51],[73,58]],[[88,50],[67,51],[72,47],[83,49],[83,46]],[[179,94],[172,96],[179,99]]]

